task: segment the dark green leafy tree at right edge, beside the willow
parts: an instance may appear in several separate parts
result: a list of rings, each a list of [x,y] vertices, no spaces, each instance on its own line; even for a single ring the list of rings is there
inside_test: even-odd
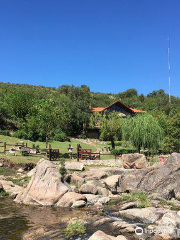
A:
[[[180,152],[180,114],[168,120],[163,149],[169,153]]]

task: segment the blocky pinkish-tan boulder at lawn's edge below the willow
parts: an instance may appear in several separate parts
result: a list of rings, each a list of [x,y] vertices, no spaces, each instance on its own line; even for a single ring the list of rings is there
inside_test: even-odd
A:
[[[123,154],[122,155],[122,162],[123,164],[128,163],[135,163],[138,169],[146,168],[147,167],[147,160],[145,155],[139,153],[132,153],[132,154]]]

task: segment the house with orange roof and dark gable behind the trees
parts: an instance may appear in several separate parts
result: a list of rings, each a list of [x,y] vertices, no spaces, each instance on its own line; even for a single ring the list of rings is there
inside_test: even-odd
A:
[[[101,113],[103,114],[106,112],[107,114],[111,112],[118,112],[120,116],[122,117],[127,117],[127,116],[136,116],[138,114],[144,113],[145,111],[139,110],[139,109],[134,109],[134,108],[129,108],[126,106],[124,103],[122,103],[120,100],[113,102],[107,107],[96,107],[96,108],[91,108],[92,113]],[[89,138],[99,138],[99,126],[96,125],[94,126],[93,129],[89,129],[88,131],[88,137]]]

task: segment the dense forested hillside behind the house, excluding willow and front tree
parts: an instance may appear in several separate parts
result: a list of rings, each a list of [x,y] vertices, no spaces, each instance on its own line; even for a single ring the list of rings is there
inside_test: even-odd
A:
[[[136,89],[111,94],[91,92],[86,85],[53,88],[1,82],[0,134],[13,133],[17,138],[32,141],[85,137],[91,108],[105,107],[118,99],[157,119],[167,140],[166,149],[179,151],[180,98],[172,96],[169,104],[163,89],[145,96]]]

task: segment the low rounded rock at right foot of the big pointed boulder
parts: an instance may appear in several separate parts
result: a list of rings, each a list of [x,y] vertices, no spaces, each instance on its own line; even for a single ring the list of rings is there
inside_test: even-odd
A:
[[[67,192],[56,205],[59,207],[71,207],[76,201],[81,200],[85,203],[87,202],[85,196],[75,192]]]

